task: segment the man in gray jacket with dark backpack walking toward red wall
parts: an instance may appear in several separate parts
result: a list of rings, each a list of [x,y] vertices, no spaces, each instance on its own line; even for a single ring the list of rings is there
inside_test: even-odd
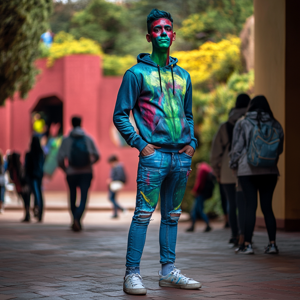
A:
[[[92,179],[92,164],[99,159],[99,153],[94,142],[80,127],[81,118],[72,118],[73,130],[61,143],[58,151],[58,165],[67,174],[67,182],[70,188],[70,206],[74,222],[72,229],[81,230],[80,219],[85,209],[88,188]],[[66,164],[67,163],[67,164]],[[76,187],[80,187],[81,199],[79,207],[76,207]]]

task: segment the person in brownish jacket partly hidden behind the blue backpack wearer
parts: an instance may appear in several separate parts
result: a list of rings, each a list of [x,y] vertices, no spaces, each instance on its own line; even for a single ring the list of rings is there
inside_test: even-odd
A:
[[[250,97],[247,94],[238,95],[235,107],[229,113],[228,121],[220,125],[211,145],[211,166],[213,167],[217,181],[220,184],[220,189],[224,190],[228,202],[229,225],[231,227],[229,244],[232,244],[232,247],[238,244],[239,229],[236,216],[237,198],[235,185],[237,183],[237,178],[229,168],[229,152],[231,150],[232,133],[235,122],[241,116],[244,116],[249,102]],[[245,208],[240,205],[240,209],[244,210]]]

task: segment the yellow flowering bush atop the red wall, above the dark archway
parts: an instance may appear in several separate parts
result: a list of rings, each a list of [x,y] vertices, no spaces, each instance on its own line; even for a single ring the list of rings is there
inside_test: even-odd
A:
[[[101,46],[88,38],[76,40],[70,33],[61,31],[54,37],[52,46],[49,48],[47,67],[51,67],[55,60],[72,54],[101,55]]]

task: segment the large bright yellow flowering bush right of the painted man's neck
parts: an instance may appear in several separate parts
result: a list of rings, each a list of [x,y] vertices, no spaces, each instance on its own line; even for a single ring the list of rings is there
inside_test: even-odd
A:
[[[228,36],[219,43],[206,42],[199,49],[176,51],[178,65],[190,73],[193,86],[204,87],[215,82],[226,82],[229,75],[238,70],[241,40]]]

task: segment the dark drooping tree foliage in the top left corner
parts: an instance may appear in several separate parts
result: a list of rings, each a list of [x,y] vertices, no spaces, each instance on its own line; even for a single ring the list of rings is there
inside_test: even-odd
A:
[[[51,0],[4,0],[0,5],[0,105],[16,91],[25,98],[35,82],[34,61],[46,31]]]

